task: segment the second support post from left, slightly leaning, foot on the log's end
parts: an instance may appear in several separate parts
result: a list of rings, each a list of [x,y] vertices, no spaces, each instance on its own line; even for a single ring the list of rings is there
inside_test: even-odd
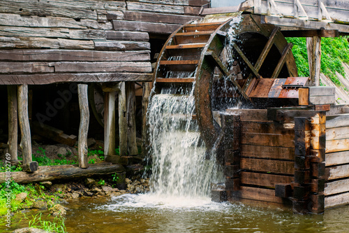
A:
[[[18,86],[17,93],[18,118],[20,120],[23,171],[36,171],[38,162],[33,162],[31,158],[31,134],[28,115],[28,85]]]

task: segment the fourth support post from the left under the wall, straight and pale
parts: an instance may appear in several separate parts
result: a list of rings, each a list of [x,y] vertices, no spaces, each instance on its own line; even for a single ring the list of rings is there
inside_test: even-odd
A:
[[[107,160],[115,154],[115,100],[117,92],[104,94],[104,155]]]

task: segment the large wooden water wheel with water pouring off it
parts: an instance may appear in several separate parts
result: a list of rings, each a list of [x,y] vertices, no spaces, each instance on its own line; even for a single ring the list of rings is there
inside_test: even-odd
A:
[[[154,90],[178,87],[174,94],[188,94],[195,83],[195,117],[211,148],[220,132],[214,111],[237,99],[253,104],[255,80],[297,77],[290,48],[280,28],[261,24],[258,15],[208,15],[168,38],[156,64]]]

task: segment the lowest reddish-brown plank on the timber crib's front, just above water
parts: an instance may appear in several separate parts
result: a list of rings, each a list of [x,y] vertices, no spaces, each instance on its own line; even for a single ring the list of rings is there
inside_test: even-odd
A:
[[[253,188],[241,186],[239,190],[239,197],[244,199],[253,199],[263,202],[283,203],[281,197],[275,197],[275,190],[265,188]]]

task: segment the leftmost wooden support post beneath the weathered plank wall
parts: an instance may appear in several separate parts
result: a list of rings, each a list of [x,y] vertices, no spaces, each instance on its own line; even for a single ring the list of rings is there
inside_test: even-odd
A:
[[[17,129],[18,129],[18,117],[17,117],[17,86],[7,86],[8,95],[8,153],[10,154],[11,161],[17,162]]]

